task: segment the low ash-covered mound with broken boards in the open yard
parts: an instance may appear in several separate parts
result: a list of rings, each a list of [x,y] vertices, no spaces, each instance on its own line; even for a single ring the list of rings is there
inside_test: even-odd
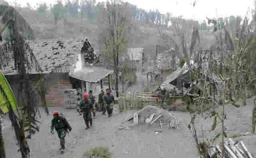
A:
[[[155,106],[146,106],[133,114],[134,123],[149,123],[152,126],[163,128],[178,128],[180,121],[176,119],[169,111]]]

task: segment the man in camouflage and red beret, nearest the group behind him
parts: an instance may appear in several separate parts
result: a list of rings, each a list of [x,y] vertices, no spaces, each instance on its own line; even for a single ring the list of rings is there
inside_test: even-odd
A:
[[[92,107],[92,104],[90,104],[88,96],[89,96],[88,93],[84,93],[83,95],[84,99],[78,105],[80,111],[83,113],[83,117],[86,125],[85,129],[90,128],[89,122],[91,123],[91,126],[92,126],[91,110],[93,107]]]

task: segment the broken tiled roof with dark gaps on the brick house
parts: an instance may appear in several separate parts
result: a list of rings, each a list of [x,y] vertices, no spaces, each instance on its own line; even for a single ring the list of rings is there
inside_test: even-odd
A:
[[[55,69],[61,72],[70,72],[75,69],[75,63],[78,60],[78,54],[83,47],[82,39],[68,40],[35,40],[26,41],[37,58],[39,66],[43,73],[49,73]],[[14,70],[14,61],[11,61],[3,69],[5,75],[17,74]],[[58,68],[59,67],[59,68]],[[38,74],[32,70],[30,74]]]

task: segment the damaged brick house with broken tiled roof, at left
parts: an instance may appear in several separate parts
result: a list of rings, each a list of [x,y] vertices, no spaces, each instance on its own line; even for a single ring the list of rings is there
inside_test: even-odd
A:
[[[64,90],[65,89],[83,89],[86,91],[86,82],[81,81],[83,78],[91,76],[96,68],[91,66],[84,69],[90,73],[84,73],[83,78],[70,77],[70,72],[75,71],[79,56],[81,56],[84,45],[83,39],[69,39],[69,40],[35,40],[26,41],[29,49],[33,52],[38,61],[41,71],[31,70],[29,72],[29,79],[32,81],[32,87],[38,90],[38,81],[44,78],[43,87],[45,88],[46,104],[50,107],[64,107]],[[1,51],[10,51],[6,45],[2,45]],[[10,52],[12,53],[12,52]],[[14,61],[14,59],[12,59]],[[1,61],[2,65],[4,64]],[[19,78],[18,72],[14,68],[14,62],[2,66],[3,74],[9,81],[15,96],[18,96]],[[81,68],[79,71],[82,71]],[[97,70],[97,69],[96,69]],[[109,73],[107,73],[108,75]],[[97,76],[97,75],[96,75]],[[101,75],[102,76],[102,75]],[[103,75],[105,77],[105,74]],[[97,78],[101,78],[98,77]],[[102,78],[101,78],[102,79]],[[95,80],[94,80],[95,81]],[[99,80],[97,79],[96,82]],[[87,83],[88,84],[88,83]],[[87,86],[92,88],[91,86]],[[88,89],[87,89],[88,90]],[[19,99],[20,100],[20,99]],[[35,98],[35,103],[41,103],[41,97],[38,94]]]

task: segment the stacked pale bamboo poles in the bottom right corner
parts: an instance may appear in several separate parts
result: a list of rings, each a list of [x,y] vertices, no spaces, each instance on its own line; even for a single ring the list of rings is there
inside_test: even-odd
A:
[[[242,141],[234,142],[229,138],[229,142],[224,142],[224,150],[224,158],[253,158]],[[221,147],[209,146],[208,154],[209,158],[221,157]]]

